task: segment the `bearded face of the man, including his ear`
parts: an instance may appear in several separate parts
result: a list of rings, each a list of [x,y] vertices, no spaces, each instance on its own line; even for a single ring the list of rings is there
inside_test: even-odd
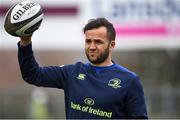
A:
[[[110,51],[114,47],[112,43],[108,40],[105,27],[87,30],[85,32],[85,52],[88,60],[96,65],[108,62]]]

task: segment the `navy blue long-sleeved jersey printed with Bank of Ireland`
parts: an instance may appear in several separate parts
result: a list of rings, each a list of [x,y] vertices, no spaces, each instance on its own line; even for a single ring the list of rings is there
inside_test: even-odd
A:
[[[139,77],[114,63],[97,67],[78,62],[72,65],[41,67],[32,45],[18,44],[23,79],[36,86],[64,90],[66,118],[147,118]]]

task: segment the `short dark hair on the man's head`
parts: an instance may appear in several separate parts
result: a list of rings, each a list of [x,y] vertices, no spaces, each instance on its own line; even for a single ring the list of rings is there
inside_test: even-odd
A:
[[[106,18],[97,18],[97,19],[90,19],[88,23],[85,25],[83,32],[85,33],[87,30],[91,30],[94,28],[99,27],[106,27],[107,29],[107,37],[110,41],[114,41],[116,37],[116,32],[113,27],[113,24],[110,23]]]

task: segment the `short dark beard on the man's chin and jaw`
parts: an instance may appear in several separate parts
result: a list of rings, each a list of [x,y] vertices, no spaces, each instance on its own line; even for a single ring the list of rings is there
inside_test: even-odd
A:
[[[103,63],[109,56],[109,47],[107,47],[105,49],[105,51],[103,51],[102,53],[100,53],[98,56],[96,56],[95,59],[91,58],[89,53],[88,53],[88,50],[85,51],[86,52],[86,56],[88,58],[88,60],[93,63],[93,64],[100,64],[100,63]]]

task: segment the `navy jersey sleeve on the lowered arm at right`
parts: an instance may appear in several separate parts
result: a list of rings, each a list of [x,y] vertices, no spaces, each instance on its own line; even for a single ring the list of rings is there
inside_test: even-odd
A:
[[[148,119],[144,91],[139,77],[135,77],[126,97],[126,110],[130,119]]]

